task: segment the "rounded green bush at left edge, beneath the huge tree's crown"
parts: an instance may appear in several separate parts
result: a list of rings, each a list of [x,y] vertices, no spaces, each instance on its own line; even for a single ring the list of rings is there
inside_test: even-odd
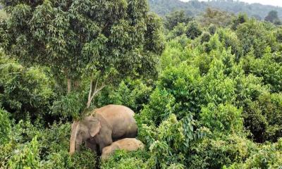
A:
[[[47,115],[53,87],[54,81],[41,68],[25,68],[0,53],[0,102],[12,118]]]

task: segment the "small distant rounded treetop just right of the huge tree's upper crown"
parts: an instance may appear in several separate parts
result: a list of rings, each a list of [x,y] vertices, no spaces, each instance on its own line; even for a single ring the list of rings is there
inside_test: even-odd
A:
[[[192,18],[185,15],[184,11],[175,11],[166,15],[166,20],[164,25],[168,30],[173,30],[178,23],[189,23]]]

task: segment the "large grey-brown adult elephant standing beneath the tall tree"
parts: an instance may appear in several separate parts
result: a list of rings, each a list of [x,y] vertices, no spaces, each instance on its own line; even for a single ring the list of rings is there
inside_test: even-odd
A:
[[[83,120],[72,124],[70,154],[79,150],[82,141],[87,148],[101,154],[105,146],[118,139],[135,138],[137,124],[134,114],[130,108],[121,105],[95,108]]]

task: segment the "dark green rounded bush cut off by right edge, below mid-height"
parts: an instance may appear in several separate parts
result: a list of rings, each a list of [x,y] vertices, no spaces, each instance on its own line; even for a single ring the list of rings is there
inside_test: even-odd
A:
[[[247,104],[244,112],[245,126],[257,142],[276,142],[282,137],[281,118],[281,94],[262,94],[257,101]]]

